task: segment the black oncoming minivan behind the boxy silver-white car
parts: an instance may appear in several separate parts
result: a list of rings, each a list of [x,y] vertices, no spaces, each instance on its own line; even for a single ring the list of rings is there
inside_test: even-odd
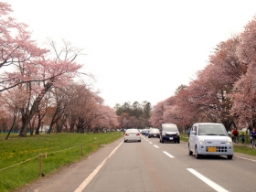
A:
[[[160,143],[165,141],[179,144],[179,131],[175,123],[163,123],[160,129]]]

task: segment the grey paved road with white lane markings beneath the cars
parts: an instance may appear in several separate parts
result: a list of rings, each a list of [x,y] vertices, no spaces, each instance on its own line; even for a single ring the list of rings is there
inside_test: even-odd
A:
[[[250,155],[196,159],[188,155],[187,143],[160,144],[157,138],[144,137],[141,143],[120,139],[108,144],[87,160],[23,190],[245,192],[256,191],[255,178],[256,158]]]

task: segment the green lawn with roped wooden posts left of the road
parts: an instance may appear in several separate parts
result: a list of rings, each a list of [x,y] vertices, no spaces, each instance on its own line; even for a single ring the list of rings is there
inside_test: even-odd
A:
[[[0,133],[0,191],[14,191],[37,180],[42,174],[55,172],[90,155],[101,147],[123,137],[121,132],[112,133],[41,133],[19,137]]]

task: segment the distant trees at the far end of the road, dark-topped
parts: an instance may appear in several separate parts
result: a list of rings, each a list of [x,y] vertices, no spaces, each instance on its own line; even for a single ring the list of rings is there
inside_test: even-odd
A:
[[[118,115],[118,122],[121,128],[144,128],[149,127],[149,119],[152,110],[151,103],[143,101],[124,102],[123,105],[116,104],[114,107]]]

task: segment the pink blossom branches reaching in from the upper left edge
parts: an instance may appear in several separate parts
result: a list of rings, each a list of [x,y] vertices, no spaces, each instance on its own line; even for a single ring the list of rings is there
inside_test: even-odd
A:
[[[42,78],[37,76],[37,63],[48,53],[47,49],[37,47],[27,31],[27,25],[16,23],[14,18],[8,16],[10,12],[10,5],[0,2],[0,91]],[[20,64],[26,65],[26,71],[9,72],[20,68]]]

